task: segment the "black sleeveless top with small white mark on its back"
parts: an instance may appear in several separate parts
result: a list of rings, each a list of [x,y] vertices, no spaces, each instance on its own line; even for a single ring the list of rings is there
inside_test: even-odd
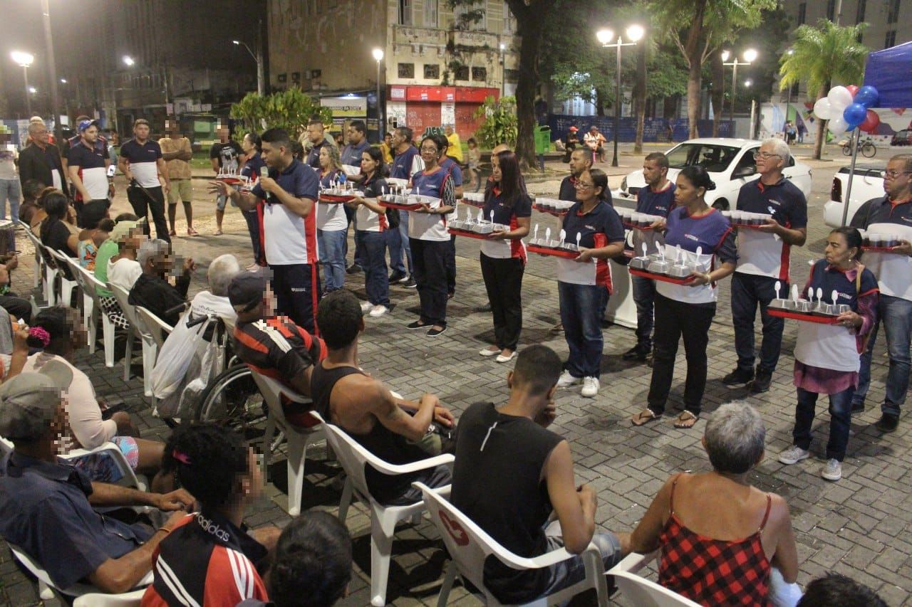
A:
[[[456,436],[453,506],[507,550],[528,558],[544,554],[544,523],[553,507],[540,478],[562,440],[528,417],[498,413],[492,403],[470,406]],[[517,571],[493,555],[484,562],[484,583],[505,604],[534,599],[550,577],[548,568]]]

